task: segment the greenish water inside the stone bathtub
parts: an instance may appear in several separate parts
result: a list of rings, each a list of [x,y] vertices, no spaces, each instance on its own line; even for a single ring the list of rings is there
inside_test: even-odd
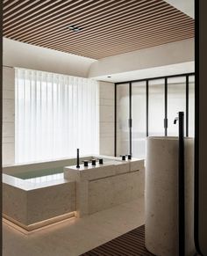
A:
[[[38,178],[43,177],[47,175],[62,173],[63,167],[56,167],[56,168],[49,168],[44,170],[36,170],[36,171],[30,171],[30,172],[19,172],[19,173],[12,173],[13,177],[17,177],[19,179],[32,179],[32,178]]]

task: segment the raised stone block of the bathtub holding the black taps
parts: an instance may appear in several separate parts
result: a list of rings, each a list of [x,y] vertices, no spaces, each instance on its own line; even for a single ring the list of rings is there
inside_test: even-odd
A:
[[[82,217],[144,195],[144,160],[122,161],[80,168],[67,166],[64,177],[76,182],[76,216]]]

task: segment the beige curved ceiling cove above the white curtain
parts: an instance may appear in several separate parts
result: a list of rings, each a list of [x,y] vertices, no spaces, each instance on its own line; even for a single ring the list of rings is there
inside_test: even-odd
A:
[[[88,77],[89,67],[93,62],[96,61],[78,55],[40,48],[7,38],[3,40],[5,66]]]

